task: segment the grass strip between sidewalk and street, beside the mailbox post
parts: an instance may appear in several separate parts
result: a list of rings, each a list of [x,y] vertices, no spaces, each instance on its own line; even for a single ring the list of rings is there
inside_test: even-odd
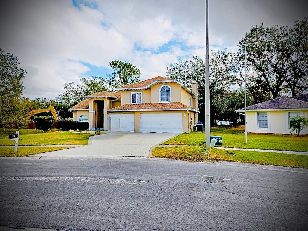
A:
[[[63,147],[18,147],[17,152],[14,152],[14,147],[0,147],[0,157],[5,156],[29,156],[43,152],[52,152],[66,149]]]

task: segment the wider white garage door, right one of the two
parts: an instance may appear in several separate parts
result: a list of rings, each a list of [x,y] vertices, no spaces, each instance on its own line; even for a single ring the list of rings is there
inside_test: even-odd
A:
[[[182,132],[182,113],[142,113],[140,132]]]

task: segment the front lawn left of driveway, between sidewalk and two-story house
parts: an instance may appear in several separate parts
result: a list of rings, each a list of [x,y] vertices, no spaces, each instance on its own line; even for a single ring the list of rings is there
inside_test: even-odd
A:
[[[34,131],[23,131],[23,130],[34,130]],[[94,135],[90,133],[79,134],[71,132],[53,132],[53,131],[36,133],[35,131],[37,130],[21,129],[19,133],[20,140],[18,141],[18,145],[59,145],[59,144],[86,145],[88,143],[89,137]],[[0,145],[15,144],[14,140],[8,139],[9,133],[7,133],[7,136],[0,137]]]

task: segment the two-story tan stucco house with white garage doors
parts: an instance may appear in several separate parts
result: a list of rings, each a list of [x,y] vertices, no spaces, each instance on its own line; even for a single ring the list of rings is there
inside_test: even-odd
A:
[[[197,122],[197,82],[192,90],[161,76],[133,83],[118,92],[98,92],[71,107],[73,120],[89,128],[121,132],[191,132]]]

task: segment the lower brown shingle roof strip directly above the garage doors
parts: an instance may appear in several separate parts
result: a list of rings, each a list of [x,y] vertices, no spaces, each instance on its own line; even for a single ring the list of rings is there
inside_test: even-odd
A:
[[[108,110],[108,112],[117,112],[117,111],[176,111],[176,110],[189,110],[200,113],[180,102],[172,103],[133,103],[133,104],[124,104],[119,107],[114,107]]]

